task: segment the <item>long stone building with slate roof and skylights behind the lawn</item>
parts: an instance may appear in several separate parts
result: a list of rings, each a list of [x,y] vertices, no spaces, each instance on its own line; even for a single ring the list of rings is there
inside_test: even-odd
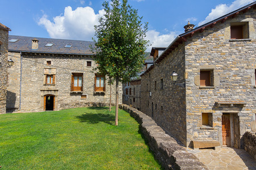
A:
[[[108,105],[108,78],[94,71],[96,63],[90,45],[94,43],[9,36],[9,58],[15,65],[8,69],[7,111],[56,111]]]

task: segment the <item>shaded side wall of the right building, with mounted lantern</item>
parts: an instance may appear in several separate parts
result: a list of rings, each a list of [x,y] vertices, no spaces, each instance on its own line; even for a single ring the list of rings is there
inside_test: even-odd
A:
[[[153,69],[141,76],[141,111],[185,145],[186,101],[185,88],[181,86],[185,82],[184,55],[184,44],[181,44],[161,62],[155,64]],[[170,77],[172,71],[179,74],[175,84]]]

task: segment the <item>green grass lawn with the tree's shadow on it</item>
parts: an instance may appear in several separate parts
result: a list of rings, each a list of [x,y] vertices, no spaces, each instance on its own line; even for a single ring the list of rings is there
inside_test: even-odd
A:
[[[1,169],[160,169],[138,123],[114,108],[0,115]]]

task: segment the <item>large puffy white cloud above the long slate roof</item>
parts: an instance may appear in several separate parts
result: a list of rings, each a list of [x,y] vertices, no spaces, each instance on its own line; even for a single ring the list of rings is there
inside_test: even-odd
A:
[[[68,6],[65,7],[63,16],[55,16],[51,22],[47,15],[43,15],[38,24],[46,28],[51,38],[89,41],[94,37],[94,25],[98,24],[98,18],[104,14],[104,10],[95,14],[91,7],[77,7],[72,10]]]

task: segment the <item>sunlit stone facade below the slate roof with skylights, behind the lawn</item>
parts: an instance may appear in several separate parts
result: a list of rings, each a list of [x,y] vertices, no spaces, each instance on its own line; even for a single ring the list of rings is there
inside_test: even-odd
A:
[[[40,42],[40,38],[36,39]],[[49,41],[54,43],[55,40],[49,39]],[[20,52],[9,48],[9,57],[15,62],[15,65],[8,70],[10,84],[7,88],[7,110],[10,112],[44,111],[47,104],[46,96],[54,97],[52,107],[55,111],[91,105],[109,105],[110,86],[106,83],[108,78],[105,78],[104,90],[96,91],[94,88],[97,71],[94,70],[96,63],[91,54],[61,53],[61,50],[57,54]],[[72,90],[72,79],[75,74],[82,77],[79,82],[82,84],[82,90]],[[46,82],[48,75],[53,76],[54,83]],[[112,104],[115,103],[114,94],[115,84],[112,85]],[[122,103],[121,95],[120,83],[119,104]]]

